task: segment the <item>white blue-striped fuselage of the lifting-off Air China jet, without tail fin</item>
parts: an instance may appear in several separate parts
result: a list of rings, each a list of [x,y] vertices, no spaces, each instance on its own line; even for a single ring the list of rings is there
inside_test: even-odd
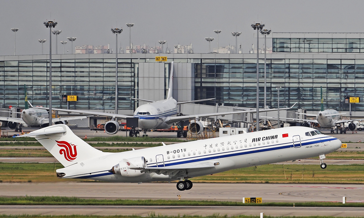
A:
[[[57,173],[65,173],[63,178],[108,182],[174,181],[178,179],[178,173],[139,173],[139,170],[126,169],[137,173],[137,176],[125,177],[113,174],[109,170],[120,161],[136,157],[144,157],[147,167],[181,169],[190,165],[214,164],[214,167],[208,169],[185,172],[187,178],[192,178],[230,169],[316,157],[331,153],[340,146],[341,141],[332,136],[312,128],[294,126],[121,153],[106,153],[101,157],[84,160],[82,165],[73,164],[58,169]]]

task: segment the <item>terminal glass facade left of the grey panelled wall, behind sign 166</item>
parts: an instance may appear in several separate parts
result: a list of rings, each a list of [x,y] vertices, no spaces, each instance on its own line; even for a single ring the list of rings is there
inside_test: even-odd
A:
[[[131,59],[118,61],[118,109],[134,110]],[[48,60],[0,61],[0,106],[24,108],[24,84],[34,106],[48,106]],[[52,106],[67,108],[62,95],[77,95],[70,109],[115,109],[115,59],[52,60]]]

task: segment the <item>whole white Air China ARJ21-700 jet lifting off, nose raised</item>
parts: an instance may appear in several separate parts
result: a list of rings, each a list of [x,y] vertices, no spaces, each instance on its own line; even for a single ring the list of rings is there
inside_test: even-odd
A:
[[[173,145],[109,153],[97,150],[64,124],[17,137],[33,137],[63,166],[58,178],[106,182],[176,181],[189,190],[190,178],[226,170],[320,157],[341,147],[341,141],[318,130],[291,126]]]

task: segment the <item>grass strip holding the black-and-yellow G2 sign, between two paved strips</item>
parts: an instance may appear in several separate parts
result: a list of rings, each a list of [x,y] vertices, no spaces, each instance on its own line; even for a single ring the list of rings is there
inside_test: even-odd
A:
[[[85,199],[57,196],[0,197],[0,205],[115,205],[115,206],[264,206],[264,207],[364,207],[364,203],[340,202],[263,202],[243,203],[241,201],[190,201],[151,199]]]

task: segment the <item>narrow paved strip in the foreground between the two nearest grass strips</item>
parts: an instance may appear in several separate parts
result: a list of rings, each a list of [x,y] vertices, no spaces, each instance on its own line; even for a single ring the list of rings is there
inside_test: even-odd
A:
[[[362,216],[363,207],[234,207],[234,206],[0,206],[0,214],[40,215],[264,215],[272,216]]]

